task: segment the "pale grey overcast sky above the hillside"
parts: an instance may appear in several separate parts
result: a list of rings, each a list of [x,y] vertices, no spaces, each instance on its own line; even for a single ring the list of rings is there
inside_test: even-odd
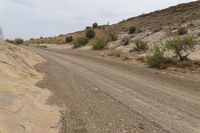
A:
[[[53,36],[194,0],[0,0],[4,38]]]

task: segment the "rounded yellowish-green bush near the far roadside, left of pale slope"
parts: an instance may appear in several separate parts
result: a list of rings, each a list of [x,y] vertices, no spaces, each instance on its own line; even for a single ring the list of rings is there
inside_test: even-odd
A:
[[[92,49],[102,50],[107,46],[108,42],[109,40],[106,37],[99,37],[91,43]]]

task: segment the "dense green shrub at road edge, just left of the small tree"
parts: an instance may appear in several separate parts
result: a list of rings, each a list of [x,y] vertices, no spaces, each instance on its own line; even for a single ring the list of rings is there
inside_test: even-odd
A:
[[[147,65],[152,68],[164,69],[166,68],[167,59],[164,57],[164,52],[156,47],[151,56],[147,57]]]

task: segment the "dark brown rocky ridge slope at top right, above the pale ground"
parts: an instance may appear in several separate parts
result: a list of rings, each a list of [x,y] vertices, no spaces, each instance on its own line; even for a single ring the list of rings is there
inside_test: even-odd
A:
[[[185,22],[199,19],[199,12],[200,1],[195,1],[130,18],[114,25],[113,28],[121,31],[134,25],[142,30],[165,29],[169,26],[173,29]]]

